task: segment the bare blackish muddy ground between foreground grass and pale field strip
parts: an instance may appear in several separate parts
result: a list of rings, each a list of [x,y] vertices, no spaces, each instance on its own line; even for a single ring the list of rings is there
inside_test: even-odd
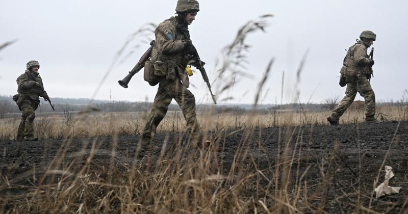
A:
[[[245,138],[245,130],[224,131],[218,147],[218,157],[222,164],[223,173],[227,173],[234,160],[238,147],[249,148],[249,154],[254,157],[258,168],[266,176],[272,176],[270,166],[277,162],[277,155],[284,154],[286,142],[290,142],[291,152],[294,147],[299,148],[301,154],[299,166],[294,164],[293,171],[297,168],[300,174],[308,169],[305,177],[310,184],[321,183],[323,177],[329,177],[328,188],[316,198],[325,195],[324,210],[330,213],[348,213],[355,209],[357,195],[360,195],[362,205],[369,206],[372,199],[371,209],[378,212],[407,213],[408,209],[408,122],[384,122],[379,124],[349,124],[339,126],[314,126],[292,128],[263,128],[254,130],[247,144],[242,144]],[[141,159],[144,155],[158,156],[163,142],[173,142],[173,138],[179,138],[182,133],[162,133],[155,137],[151,153],[142,151],[135,154],[138,136],[120,136],[117,140],[116,162],[129,163],[135,159]],[[214,136],[215,133],[210,133]],[[281,141],[279,141],[279,136]],[[91,142],[98,144],[98,150],[93,157],[93,163],[98,166],[109,165],[113,145],[113,137],[101,137],[97,139],[74,139],[69,146],[65,146],[66,155],[63,164],[70,163],[70,159],[78,156],[78,152],[86,147],[90,151]],[[167,139],[167,140],[165,140]],[[38,178],[45,172],[49,163],[53,161],[61,145],[65,140],[39,140],[37,142],[15,142],[0,140],[1,173],[0,198],[24,194],[28,191],[23,186],[36,185]],[[278,146],[278,142],[281,144]],[[298,142],[298,144],[296,144]],[[335,151],[336,144],[339,146]],[[260,149],[261,146],[261,149]],[[280,147],[280,151],[278,149]],[[168,143],[165,153],[171,156],[175,146]],[[278,153],[279,152],[279,153]],[[388,153],[389,152],[389,153]],[[84,160],[87,154],[84,155]],[[295,156],[298,156],[298,151]],[[387,158],[384,159],[387,155]],[[361,159],[359,158],[361,157]],[[391,166],[395,177],[390,181],[392,186],[401,186],[399,194],[386,196],[379,199],[371,198],[373,181],[378,171],[384,165]],[[251,162],[248,160],[248,162]],[[360,165],[361,162],[361,165]],[[255,170],[255,169],[254,169]],[[35,175],[34,175],[35,173]],[[33,176],[34,175],[34,176]],[[359,175],[361,181],[359,183]],[[300,176],[300,175],[299,175]],[[35,179],[34,177],[37,177]],[[7,182],[5,180],[7,178]],[[384,167],[381,168],[379,182],[384,181]],[[261,180],[261,184],[265,180]],[[360,185],[359,185],[360,184]],[[360,191],[358,188],[360,186]],[[318,189],[310,188],[311,195]],[[360,194],[355,194],[360,192]],[[4,203],[11,201],[1,200]],[[322,201],[310,201],[316,207]],[[7,207],[7,206],[6,206]]]

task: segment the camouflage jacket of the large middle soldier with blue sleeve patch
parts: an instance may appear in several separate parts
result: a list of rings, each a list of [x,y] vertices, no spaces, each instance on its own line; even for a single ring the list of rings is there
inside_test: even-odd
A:
[[[156,43],[151,53],[155,75],[166,77],[167,80],[179,76],[188,88],[189,80],[185,68],[189,63],[189,56],[183,43],[186,38],[177,29],[176,18],[171,17],[160,23],[155,36]]]

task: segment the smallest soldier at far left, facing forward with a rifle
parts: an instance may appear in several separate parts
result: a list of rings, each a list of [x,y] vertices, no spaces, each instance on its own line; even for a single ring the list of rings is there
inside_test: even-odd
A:
[[[21,111],[21,122],[17,130],[17,141],[25,138],[26,141],[37,141],[34,137],[34,111],[40,104],[40,96],[46,96],[41,92],[42,79],[38,73],[40,64],[37,61],[27,63],[27,70],[17,78],[18,94],[13,96],[18,108]],[[34,74],[39,82],[36,82],[31,76]],[[45,99],[45,98],[44,98]]]

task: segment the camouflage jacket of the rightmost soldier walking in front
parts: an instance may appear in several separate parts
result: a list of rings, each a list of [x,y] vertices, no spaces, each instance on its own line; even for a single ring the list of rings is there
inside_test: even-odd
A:
[[[361,41],[348,48],[340,73],[344,74],[346,70],[349,70],[355,72],[358,76],[361,74],[371,74],[372,70],[369,66],[371,60],[367,55],[367,48],[368,45]]]

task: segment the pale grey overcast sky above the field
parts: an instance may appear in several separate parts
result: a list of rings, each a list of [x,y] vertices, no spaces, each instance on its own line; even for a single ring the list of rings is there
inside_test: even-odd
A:
[[[3,1],[0,44],[14,39],[17,42],[0,51],[0,94],[15,94],[15,79],[24,72],[28,61],[37,60],[50,97],[91,97],[126,39],[143,24],[158,24],[172,16],[175,5],[175,0]],[[231,43],[240,26],[263,14],[274,15],[266,33],[248,37],[247,43],[252,47],[247,72],[253,77],[241,79],[232,92],[235,99],[231,102],[253,102],[271,58],[275,62],[262,103],[292,101],[294,74],[308,49],[299,85],[300,100],[307,102],[313,95],[312,102],[321,102],[329,96],[343,96],[345,88],[338,85],[339,70],[346,49],[364,30],[377,34],[371,80],[377,101],[400,99],[403,90],[408,89],[406,1],[201,0],[200,9],[190,25],[190,33],[201,59],[207,62],[210,79],[216,76],[212,68],[222,48]],[[149,37],[154,39],[153,34]],[[137,38],[134,43],[141,47],[114,66],[97,99],[110,96],[115,100],[154,99],[157,86],[150,87],[144,82],[142,73],[132,79],[128,89],[117,84],[147,49],[148,45],[140,40]],[[281,100],[283,71],[285,95]],[[198,102],[211,102],[199,73],[190,82],[195,86],[190,90]]]

